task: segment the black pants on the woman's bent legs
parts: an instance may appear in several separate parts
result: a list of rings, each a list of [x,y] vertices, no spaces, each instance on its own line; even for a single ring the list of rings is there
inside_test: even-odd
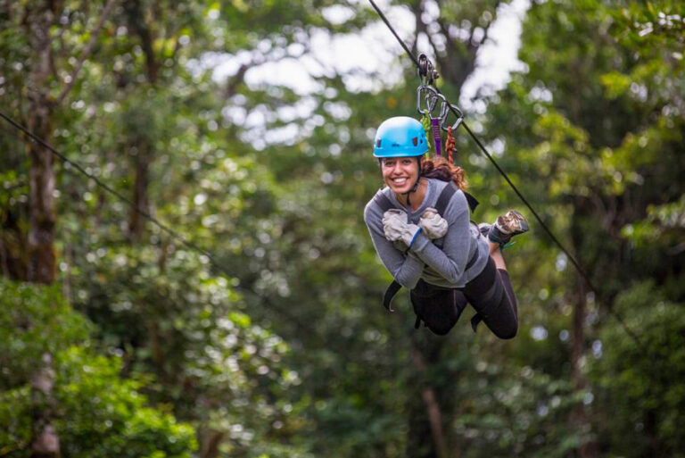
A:
[[[466,286],[436,287],[419,280],[411,290],[411,304],[417,316],[435,334],[445,335],[458,321],[466,304],[471,304],[485,325],[499,338],[513,338],[518,330],[518,311],[509,274],[497,269],[488,257],[485,268]]]

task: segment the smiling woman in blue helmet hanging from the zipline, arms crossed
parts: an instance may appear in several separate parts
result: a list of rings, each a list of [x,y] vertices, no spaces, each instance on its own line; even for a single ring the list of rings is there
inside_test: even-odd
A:
[[[475,227],[469,219],[464,172],[443,160],[422,160],[428,150],[421,123],[409,117],[384,121],[376,132],[386,187],[369,201],[364,221],[376,253],[393,279],[411,290],[420,320],[446,334],[466,301],[500,338],[516,336],[516,296],[502,246],[528,230],[515,211]],[[456,185],[441,198],[446,187]],[[442,202],[441,202],[442,201]],[[444,206],[439,214],[437,206]]]

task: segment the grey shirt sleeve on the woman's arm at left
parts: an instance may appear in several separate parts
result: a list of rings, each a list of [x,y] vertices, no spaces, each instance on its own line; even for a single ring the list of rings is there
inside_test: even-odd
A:
[[[385,269],[390,272],[392,278],[408,289],[416,287],[424,271],[424,262],[419,259],[417,254],[411,252],[407,255],[403,254],[392,242],[385,238],[382,210],[373,200],[364,209],[364,222],[367,224],[368,233],[371,235],[374,248],[376,248],[376,254],[378,254],[378,257],[383,262]],[[418,242],[419,240],[417,239],[415,245]]]

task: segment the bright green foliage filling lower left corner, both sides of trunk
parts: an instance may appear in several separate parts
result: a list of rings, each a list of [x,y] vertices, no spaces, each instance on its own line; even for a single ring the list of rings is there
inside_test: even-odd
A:
[[[54,414],[62,453],[69,456],[188,457],[194,429],[155,410],[140,394],[142,381],[120,379],[119,357],[84,345],[91,326],[73,312],[58,287],[0,280],[0,450],[29,456],[29,378],[45,353],[54,354]]]

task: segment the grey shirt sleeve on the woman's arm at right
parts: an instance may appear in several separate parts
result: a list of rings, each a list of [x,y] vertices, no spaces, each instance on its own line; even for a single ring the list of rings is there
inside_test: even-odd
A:
[[[411,247],[411,252],[417,254],[422,262],[431,266],[450,283],[462,283],[466,264],[472,252],[477,249],[471,235],[471,222],[464,193],[454,193],[450,204],[445,209],[445,214],[441,216],[448,222],[442,249],[433,245],[427,237],[419,235],[425,240],[417,239]]]

